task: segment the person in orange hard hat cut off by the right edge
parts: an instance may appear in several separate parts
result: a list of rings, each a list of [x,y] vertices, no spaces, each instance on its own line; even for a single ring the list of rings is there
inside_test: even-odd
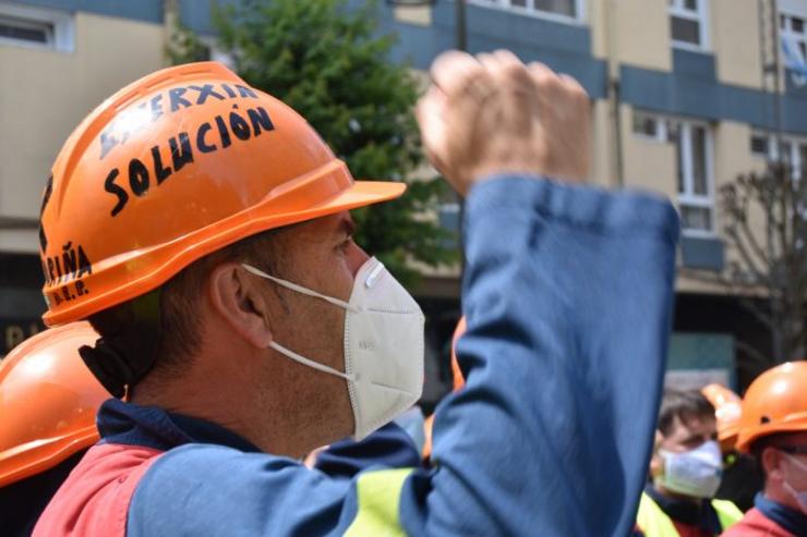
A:
[[[737,449],[764,473],[764,490],[726,537],[807,535],[807,362],[760,375],[743,399]]]

